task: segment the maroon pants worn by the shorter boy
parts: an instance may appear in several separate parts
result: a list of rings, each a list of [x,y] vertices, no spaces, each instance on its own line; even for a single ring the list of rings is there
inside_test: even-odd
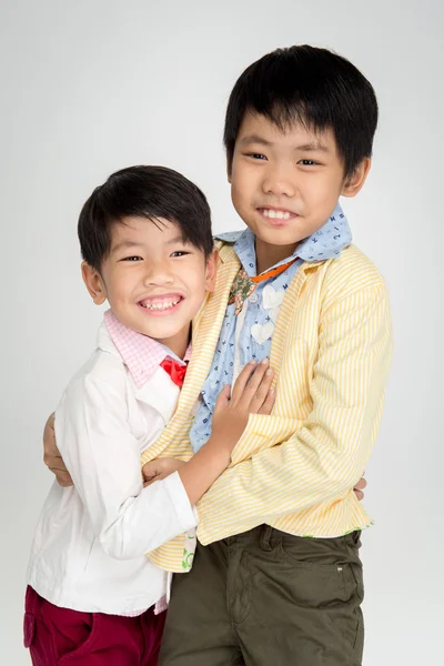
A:
[[[33,666],[157,666],[165,613],[139,617],[59,608],[28,587],[24,647]]]

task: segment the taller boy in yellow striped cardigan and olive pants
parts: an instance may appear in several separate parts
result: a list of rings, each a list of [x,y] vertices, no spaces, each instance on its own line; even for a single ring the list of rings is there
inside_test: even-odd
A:
[[[232,467],[198,505],[200,544],[173,581],[162,666],[361,664],[370,518],[352,488],[381,417],[391,323],[384,282],[350,245],[337,200],[364,184],[376,122],[369,81],[307,46],[261,58],[230,97],[228,173],[249,229],[220,243],[234,281],[193,450],[251,357],[270,355],[278,397],[272,415],[250,416]],[[162,455],[183,446],[175,425]],[[171,565],[172,553],[153,558]]]

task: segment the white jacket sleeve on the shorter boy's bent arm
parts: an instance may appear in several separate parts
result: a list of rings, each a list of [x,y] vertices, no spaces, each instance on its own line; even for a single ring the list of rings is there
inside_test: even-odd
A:
[[[119,387],[90,376],[71,384],[56,412],[56,436],[108,555],[138,557],[195,526],[178,474],[143,488],[140,443]]]

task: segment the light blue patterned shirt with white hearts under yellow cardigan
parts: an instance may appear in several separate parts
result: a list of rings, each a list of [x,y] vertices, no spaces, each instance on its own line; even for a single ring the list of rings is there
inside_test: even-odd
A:
[[[248,275],[251,278],[256,275],[254,234],[250,229],[243,232],[223,233],[216,238],[233,243],[233,249]],[[211,370],[202,389],[201,404],[190,432],[194,452],[199,451],[211,435],[214,405],[223,386],[232,384],[251,360],[261,362],[270,357],[279,307],[301,263],[339,256],[341,250],[350,245],[351,241],[349,223],[337,204],[327,222],[313,235],[301,241],[292,256],[283,259],[269,269],[272,270],[287,263],[292,258],[297,258],[279,275],[259,282],[239,315],[235,314],[234,303],[226,306]]]

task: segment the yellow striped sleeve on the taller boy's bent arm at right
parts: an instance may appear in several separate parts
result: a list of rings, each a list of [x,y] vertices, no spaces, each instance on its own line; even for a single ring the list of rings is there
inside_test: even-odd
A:
[[[385,287],[343,297],[323,313],[311,380],[313,410],[286,432],[284,420],[250,415],[228,470],[198,505],[214,524],[294,513],[346,494],[363,473],[376,436],[391,356]],[[294,428],[300,422],[290,422]],[[259,442],[259,443],[258,443]],[[208,519],[208,518],[205,518]]]

